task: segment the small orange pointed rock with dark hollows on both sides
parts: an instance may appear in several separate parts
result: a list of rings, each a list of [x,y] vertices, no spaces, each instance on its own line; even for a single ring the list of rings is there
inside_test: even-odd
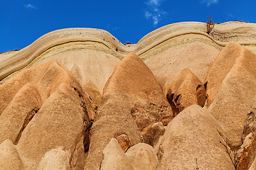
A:
[[[165,88],[166,97],[171,104],[174,115],[191,105],[204,106],[206,89],[203,83],[188,68],[178,74],[171,86]]]

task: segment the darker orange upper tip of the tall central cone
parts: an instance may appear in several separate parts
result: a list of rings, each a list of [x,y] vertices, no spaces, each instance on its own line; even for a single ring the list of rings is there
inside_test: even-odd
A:
[[[163,92],[154,74],[134,52],[130,52],[117,64],[105,84],[104,94],[110,93],[132,94],[142,98],[146,95],[163,101]]]

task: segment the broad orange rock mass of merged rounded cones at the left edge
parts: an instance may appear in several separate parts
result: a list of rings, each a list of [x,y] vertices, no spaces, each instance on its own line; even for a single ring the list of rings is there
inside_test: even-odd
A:
[[[55,61],[23,70],[0,86],[0,140],[18,144],[26,169],[36,169],[55,147],[73,154],[78,142],[89,145],[85,138],[93,109],[81,89],[68,69]]]

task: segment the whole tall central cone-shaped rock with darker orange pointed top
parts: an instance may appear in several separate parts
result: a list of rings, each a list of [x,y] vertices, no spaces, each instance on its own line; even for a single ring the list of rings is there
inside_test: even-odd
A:
[[[154,75],[134,52],[129,53],[105,85],[85,169],[100,168],[102,151],[112,137],[127,135],[135,145],[155,122],[166,125],[171,118],[171,107]],[[147,138],[154,140],[154,136]]]

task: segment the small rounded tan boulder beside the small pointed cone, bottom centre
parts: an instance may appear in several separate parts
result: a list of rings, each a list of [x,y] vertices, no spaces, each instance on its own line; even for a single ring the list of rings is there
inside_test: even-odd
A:
[[[157,157],[154,148],[145,143],[138,143],[130,147],[125,153],[134,170],[154,170],[157,165]]]

